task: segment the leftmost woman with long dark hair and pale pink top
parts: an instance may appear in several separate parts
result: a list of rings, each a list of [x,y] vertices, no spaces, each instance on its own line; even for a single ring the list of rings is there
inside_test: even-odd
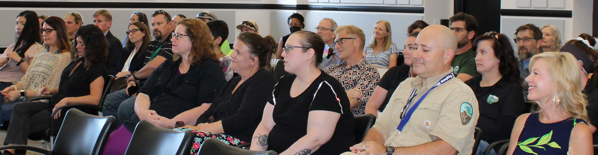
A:
[[[33,11],[23,11],[17,15],[14,44],[8,45],[0,56],[0,89],[16,84],[27,72],[30,61],[45,48],[39,44],[38,16]],[[0,94],[0,104],[4,95]],[[0,122],[3,123],[3,122]]]

